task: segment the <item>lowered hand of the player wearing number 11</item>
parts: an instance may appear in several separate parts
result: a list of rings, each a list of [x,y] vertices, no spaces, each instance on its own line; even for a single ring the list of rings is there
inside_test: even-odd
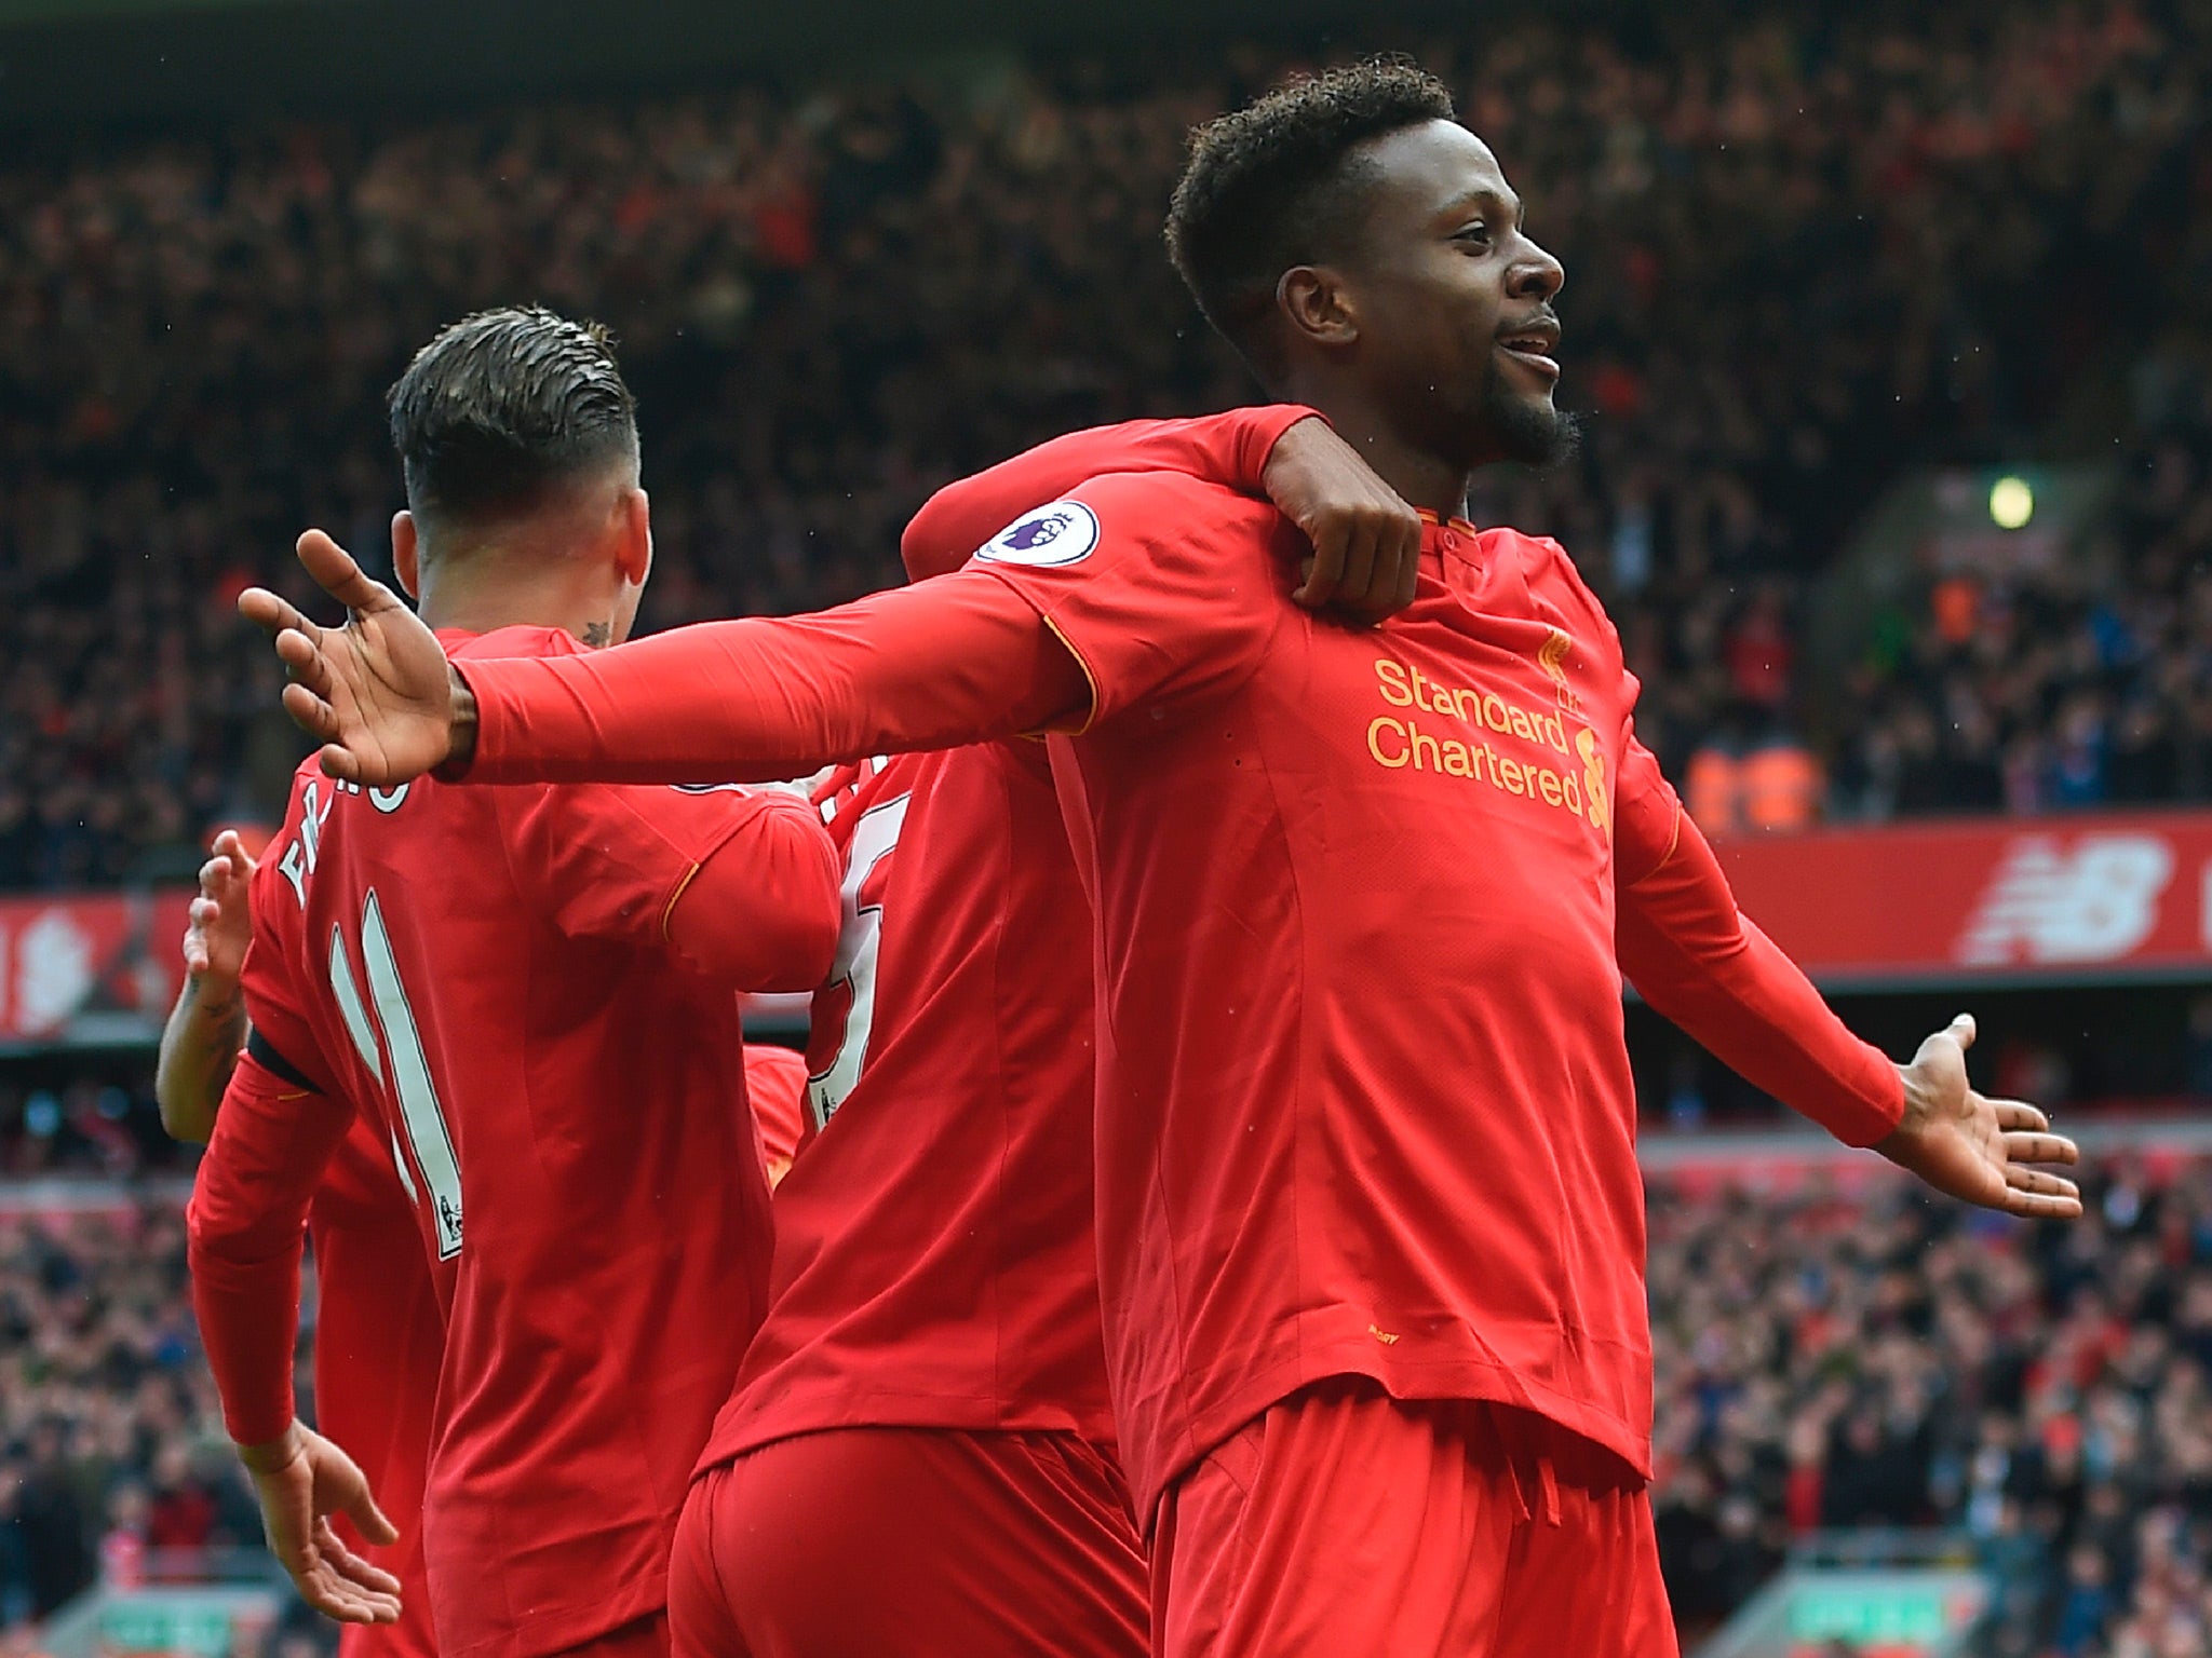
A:
[[[354,1459],[294,1421],[281,1439],[239,1446],[239,1461],[252,1475],[270,1552],[301,1598],[338,1623],[398,1623],[400,1581],[345,1547],[330,1523],[345,1514],[369,1543],[398,1541]]]

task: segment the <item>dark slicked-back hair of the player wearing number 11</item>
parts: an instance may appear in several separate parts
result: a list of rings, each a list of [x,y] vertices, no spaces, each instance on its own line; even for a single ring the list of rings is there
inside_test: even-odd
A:
[[[416,351],[387,407],[407,504],[447,524],[524,513],[562,484],[637,464],[637,400],[613,338],[535,305],[453,323]]]

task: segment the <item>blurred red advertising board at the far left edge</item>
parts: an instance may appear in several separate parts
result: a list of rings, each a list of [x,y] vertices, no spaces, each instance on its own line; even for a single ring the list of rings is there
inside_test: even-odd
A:
[[[190,889],[0,898],[0,1041],[159,1028]]]

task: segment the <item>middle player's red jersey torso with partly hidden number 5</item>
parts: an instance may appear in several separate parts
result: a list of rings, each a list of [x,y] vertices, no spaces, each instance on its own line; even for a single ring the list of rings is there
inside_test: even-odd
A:
[[[845,931],[768,1320],[706,1463],[818,1428],[1110,1441],[1091,1229],[1091,913],[1042,743],[818,791]]]

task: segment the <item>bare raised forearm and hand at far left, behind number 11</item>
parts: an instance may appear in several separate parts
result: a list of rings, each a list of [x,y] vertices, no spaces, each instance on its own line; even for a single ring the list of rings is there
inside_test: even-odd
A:
[[[215,1108],[246,1046],[239,973],[252,940],[246,909],[252,875],[246,842],[232,829],[219,833],[215,856],[199,867],[199,898],[184,935],[184,988],[161,1026],[161,1057],[153,1072],[161,1127],[192,1145],[206,1145],[215,1132]]]

